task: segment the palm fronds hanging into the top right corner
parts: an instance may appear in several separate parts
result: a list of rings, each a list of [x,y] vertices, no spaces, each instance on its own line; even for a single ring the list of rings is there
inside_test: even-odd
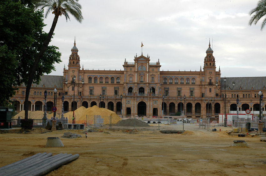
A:
[[[252,24],[256,25],[258,21],[266,15],[266,0],[260,0],[257,3],[257,7],[251,9],[249,12],[249,16],[251,16],[254,13],[254,15],[250,18],[248,25],[251,26]],[[266,24],[266,17],[263,19],[260,30],[262,31],[264,26]]]

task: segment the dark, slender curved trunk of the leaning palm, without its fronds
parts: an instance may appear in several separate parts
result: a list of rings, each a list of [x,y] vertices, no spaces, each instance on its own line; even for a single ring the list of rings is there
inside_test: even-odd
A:
[[[49,43],[51,41],[51,38],[53,36],[54,29],[55,29],[57,21],[58,21],[58,16],[55,15],[54,16],[54,21],[53,21],[51,29],[50,29],[50,31],[48,33],[48,36],[47,36],[46,40],[44,41],[43,46],[42,46],[37,58],[34,60],[34,63],[32,65],[32,67],[31,67],[31,71],[30,71],[30,74],[29,74],[29,77],[28,77],[28,83],[27,83],[27,88],[26,88],[26,96],[25,96],[25,102],[24,102],[25,119],[28,119],[28,97],[29,97],[29,91],[30,91],[30,88],[31,88],[31,84],[33,82],[33,77],[34,77],[34,74],[35,74],[36,69],[38,67],[39,61],[42,58],[43,53],[45,52],[46,48],[48,47],[48,45],[49,45]]]

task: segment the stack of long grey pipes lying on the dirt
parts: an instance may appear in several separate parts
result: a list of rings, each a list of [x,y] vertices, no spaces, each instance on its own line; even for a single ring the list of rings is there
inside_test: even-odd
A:
[[[58,155],[52,156],[52,153],[38,153],[18,162],[1,167],[0,176],[44,175],[58,168],[59,166],[67,164],[77,158],[79,158],[79,154],[72,155],[67,153],[60,153]]]

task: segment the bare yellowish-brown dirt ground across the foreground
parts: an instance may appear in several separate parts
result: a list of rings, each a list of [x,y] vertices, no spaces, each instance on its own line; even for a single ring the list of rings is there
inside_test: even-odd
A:
[[[157,127],[128,129],[100,129],[88,132],[87,139],[84,130],[1,130],[0,167],[37,153],[52,152],[80,156],[47,176],[266,175],[266,142],[260,141],[260,136],[230,136],[225,131],[230,128],[226,127],[222,131],[182,134],[164,134]],[[63,138],[66,131],[82,138]],[[59,137],[64,147],[45,147],[47,137]],[[233,140],[245,140],[248,147],[232,147]]]

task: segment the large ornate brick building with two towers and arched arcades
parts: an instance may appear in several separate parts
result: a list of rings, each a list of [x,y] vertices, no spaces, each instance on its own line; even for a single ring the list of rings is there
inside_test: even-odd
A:
[[[32,85],[30,111],[44,110],[44,90],[48,91],[47,111],[51,111],[54,88],[58,93],[57,114],[61,114],[62,104],[64,112],[97,105],[123,117],[162,116],[163,109],[165,115],[181,111],[186,117],[194,119],[218,117],[224,110],[226,113],[236,113],[237,97],[239,114],[250,108],[251,113],[256,115],[259,113],[258,92],[266,94],[266,77],[230,77],[226,81],[221,78],[210,43],[200,71],[161,71],[159,59],[150,62],[150,56],[142,54],[136,55],[132,63],[125,59],[122,71],[84,70],[80,67],[82,59],[78,51],[74,42],[68,69],[64,68],[63,76],[44,75],[38,85]],[[224,85],[229,86],[226,92]],[[25,90],[25,85],[20,86],[13,97],[17,111],[23,110]],[[264,114],[265,103],[262,106]]]

